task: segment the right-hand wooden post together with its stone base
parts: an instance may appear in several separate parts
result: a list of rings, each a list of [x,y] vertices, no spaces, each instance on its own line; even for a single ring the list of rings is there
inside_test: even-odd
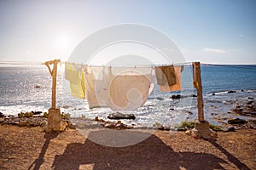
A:
[[[198,110],[198,122],[195,122],[195,128],[192,130],[192,136],[196,138],[211,139],[216,138],[214,133],[204,118],[204,102],[201,86],[201,67],[200,62],[193,63],[193,84],[197,94],[197,110]]]

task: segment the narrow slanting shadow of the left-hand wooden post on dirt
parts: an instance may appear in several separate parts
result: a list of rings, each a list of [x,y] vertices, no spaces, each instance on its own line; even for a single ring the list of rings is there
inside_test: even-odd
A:
[[[31,166],[28,167],[29,170],[33,169],[33,170],[38,170],[40,169],[41,165],[44,163],[44,155],[45,155],[45,152],[49,146],[49,142],[51,139],[55,139],[57,136],[58,136],[59,133],[57,132],[54,132],[54,133],[45,133],[44,134],[44,139],[45,142],[44,142],[44,145],[42,147],[42,150],[41,150],[41,153],[39,154],[38,156],[38,159],[36,159],[35,161],[32,162]],[[34,165],[34,167],[33,167]],[[33,167],[33,168],[32,168]]]

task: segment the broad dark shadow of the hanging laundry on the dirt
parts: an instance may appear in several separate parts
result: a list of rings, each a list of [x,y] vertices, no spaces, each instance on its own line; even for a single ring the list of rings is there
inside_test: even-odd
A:
[[[134,131],[124,131],[122,134],[148,135]],[[89,140],[91,136],[104,139],[108,133],[105,130],[90,132],[84,144],[67,144],[64,153],[55,156],[52,168],[79,169],[83,165],[93,165],[93,169],[224,169],[221,163],[227,163],[212,154],[175,152],[154,134],[148,135],[148,139],[138,144],[126,147],[96,144]]]

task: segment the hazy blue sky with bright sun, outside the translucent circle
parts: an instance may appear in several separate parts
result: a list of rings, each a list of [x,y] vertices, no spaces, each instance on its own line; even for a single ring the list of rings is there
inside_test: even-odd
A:
[[[123,23],[164,32],[186,61],[256,64],[254,0],[1,0],[0,60],[67,60],[84,38]]]

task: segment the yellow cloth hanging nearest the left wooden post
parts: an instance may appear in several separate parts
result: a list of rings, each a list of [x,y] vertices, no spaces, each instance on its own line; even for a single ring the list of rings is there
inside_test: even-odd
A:
[[[74,64],[65,62],[65,78],[70,83],[73,97],[85,98],[84,71],[78,71]]]

